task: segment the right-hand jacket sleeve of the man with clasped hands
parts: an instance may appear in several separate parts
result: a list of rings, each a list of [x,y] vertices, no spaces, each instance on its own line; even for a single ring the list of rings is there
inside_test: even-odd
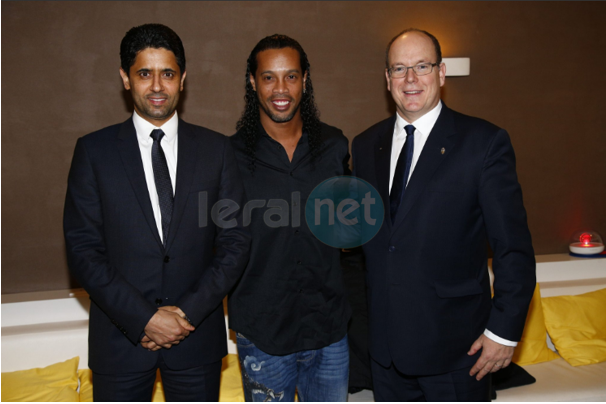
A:
[[[240,177],[236,157],[229,142],[223,143],[223,167],[219,186],[218,201],[230,201],[232,213],[221,215],[215,233],[215,254],[210,268],[193,285],[177,304],[188,316],[189,321],[198,326],[222,302],[227,293],[240,279],[248,263],[251,236],[243,226],[242,212],[244,203],[244,185]],[[233,205],[233,202],[237,205]],[[211,202],[209,201],[209,205]]]

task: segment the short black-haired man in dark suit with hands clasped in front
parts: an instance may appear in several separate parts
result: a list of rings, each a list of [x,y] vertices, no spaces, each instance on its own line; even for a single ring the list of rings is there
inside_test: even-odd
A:
[[[241,211],[211,221],[206,208],[243,205],[238,166],[227,137],[177,117],[186,71],[174,31],[132,28],[120,58],[135,112],[78,139],[64,212],[69,267],[92,300],[94,399],[150,401],[160,369],[169,401],[217,401],[222,300],[250,235]]]

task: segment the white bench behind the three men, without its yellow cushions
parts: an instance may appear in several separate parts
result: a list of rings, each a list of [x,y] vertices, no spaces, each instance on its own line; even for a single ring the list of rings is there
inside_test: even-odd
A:
[[[537,281],[543,297],[606,288],[606,259],[537,256]],[[81,289],[2,296],[2,371],[44,367],[74,356],[86,368],[89,305]],[[229,353],[236,353],[235,338],[228,335]],[[548,345],[553,349],[549,340]],[[525,369],[536,383],[500,390],[497,401],[606,401],[606,362],[572,367],[560,358]]]

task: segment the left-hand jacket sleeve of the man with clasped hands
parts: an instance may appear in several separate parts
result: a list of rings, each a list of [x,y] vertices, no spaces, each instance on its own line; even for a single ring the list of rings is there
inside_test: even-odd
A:
[[[110,263],[103,231],[102,197],[85,142],[76,143],[63,213],[72,276],[112,323],[137,344],[157,308]]]

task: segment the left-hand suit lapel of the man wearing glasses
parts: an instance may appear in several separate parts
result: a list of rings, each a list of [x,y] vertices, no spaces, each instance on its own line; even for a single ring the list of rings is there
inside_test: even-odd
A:
[[[389,216],[389,168],[391,165],[391,143],[393,140],[393,129],[396,124],[396,116],[385,120],[378,130],[379,139],[375,145],[375,175],[379,195],[383,200],[385,209],[385,222],[391,225]]]

